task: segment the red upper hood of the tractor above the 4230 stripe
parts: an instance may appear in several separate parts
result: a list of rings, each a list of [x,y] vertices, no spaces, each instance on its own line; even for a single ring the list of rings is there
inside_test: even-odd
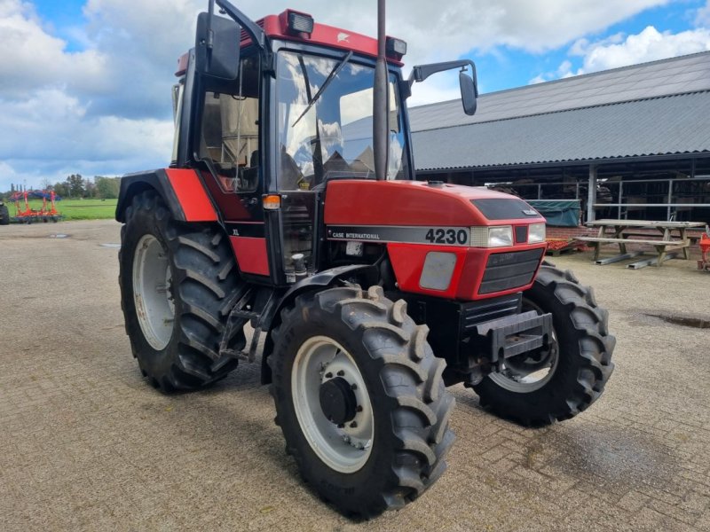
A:
[[[544,221],[524,200],[485,187],[360,179],[327,184],[327,225],[470,227]]]

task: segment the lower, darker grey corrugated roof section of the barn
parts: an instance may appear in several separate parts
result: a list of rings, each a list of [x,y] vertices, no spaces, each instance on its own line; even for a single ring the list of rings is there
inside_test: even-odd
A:
[[[462,113],[461,113],[462,114]],[[710,90],[413,134],[418,170],[710,152]]]

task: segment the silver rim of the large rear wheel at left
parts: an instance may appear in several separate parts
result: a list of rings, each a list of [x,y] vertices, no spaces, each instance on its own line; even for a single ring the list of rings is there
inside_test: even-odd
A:
[[[175,303],[168,254],[153,235],[144,235],[133,255],[133,302],[150,347],[164,349],[172,336]]]

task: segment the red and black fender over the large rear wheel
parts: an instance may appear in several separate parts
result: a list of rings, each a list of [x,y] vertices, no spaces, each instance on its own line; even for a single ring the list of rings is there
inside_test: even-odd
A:
[[[220,222],[200,176],[193,169],[185,168],[159,168],[123,176],[116,220],[125,223],[126,208],[133,197],[150,189],[160,194],[178,222]]]

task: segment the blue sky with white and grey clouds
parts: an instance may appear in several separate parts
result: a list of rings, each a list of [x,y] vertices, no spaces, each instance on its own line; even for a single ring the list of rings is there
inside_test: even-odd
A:
[[[0,0],[0,192],[162,168],[170,88],[207,0]],[[375,35],[375,0],[233,0]],[[434,10],[438,12],[433,12]],[[483,93],[710,50],[710,0],[388,0],[409,66],[477,64]],[[458,98],[454,73],[409,106]]]

